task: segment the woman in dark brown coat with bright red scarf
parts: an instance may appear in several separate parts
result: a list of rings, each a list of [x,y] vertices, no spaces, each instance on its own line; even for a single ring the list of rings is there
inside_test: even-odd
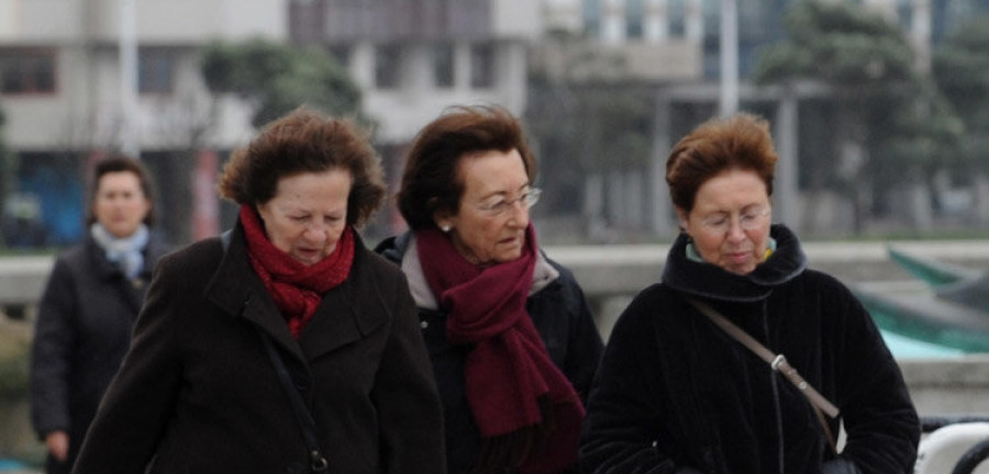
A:
[[[407,280],[355,232],[381,173],[353,124],[305,109],[235,151],[235,227],[158,264],[74,472],[444,473]]]

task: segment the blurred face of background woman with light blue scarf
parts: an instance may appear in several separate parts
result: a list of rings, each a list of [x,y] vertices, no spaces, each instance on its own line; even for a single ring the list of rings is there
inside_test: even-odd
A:
[[[131,171],[104,173],[97,182],[92,215],[111,235],[133,235],[152,210],[152,202],[141,189],[141,179]]]

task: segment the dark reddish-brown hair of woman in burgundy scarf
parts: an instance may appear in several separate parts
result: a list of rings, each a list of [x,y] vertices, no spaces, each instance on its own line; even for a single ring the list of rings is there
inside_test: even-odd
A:
[[[405,160],[398,207],[412,229],[433,225],[436,211],[457,212],[465,184],[459,163],[476,151],[519,150],[530,182],[536,162],[521,123],[497,105],[459,105],[446,110],[419,132]]]

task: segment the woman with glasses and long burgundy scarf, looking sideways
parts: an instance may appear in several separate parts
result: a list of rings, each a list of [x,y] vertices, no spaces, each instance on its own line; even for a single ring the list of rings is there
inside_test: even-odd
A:
[[[573,274],[536,244],[535,173],[509,112],[452,109],[409,153],[398,205],[411,230],[378,246],[419,306],[451,473],[576,470],[602,343]]]

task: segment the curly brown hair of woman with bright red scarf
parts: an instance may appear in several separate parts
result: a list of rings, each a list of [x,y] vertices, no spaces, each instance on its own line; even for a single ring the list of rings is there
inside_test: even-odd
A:
[[[368,133],[348,120],[299,108],[266,125],[246,148],[234,150],[223,167],[220,195],[257,206],[275,198],[281,178],[344,169],[353,184],[347,224],[360,226],[385,200],[385,178]]]

